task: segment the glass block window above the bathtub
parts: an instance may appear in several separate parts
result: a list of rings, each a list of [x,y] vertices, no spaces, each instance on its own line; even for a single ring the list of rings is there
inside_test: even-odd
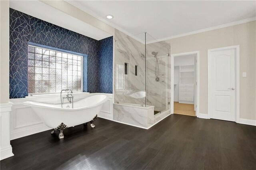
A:
[[[82,56],[28,45],[28,93],[82,91]]]

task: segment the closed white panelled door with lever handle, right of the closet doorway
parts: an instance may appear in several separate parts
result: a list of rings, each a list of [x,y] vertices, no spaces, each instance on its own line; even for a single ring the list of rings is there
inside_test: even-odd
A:
[[[208,51],[208,113],[212,119],[236,121],[236,48]]]

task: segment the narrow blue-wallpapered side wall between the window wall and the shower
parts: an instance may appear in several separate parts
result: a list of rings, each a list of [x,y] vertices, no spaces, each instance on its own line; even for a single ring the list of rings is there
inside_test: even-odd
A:
[[[98,56],[98,91],[100,93],[112,93],[113,37],[99,41]]]

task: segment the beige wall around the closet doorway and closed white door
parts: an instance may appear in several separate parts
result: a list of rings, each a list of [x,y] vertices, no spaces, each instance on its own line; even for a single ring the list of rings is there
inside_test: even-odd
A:
[[[200,108],[207,114],[207,49],[240,45],[240,118],[256,120],[256,21],[174,38],[172,54],[200,51]],[[247,72],[247,77],[242,77]]]

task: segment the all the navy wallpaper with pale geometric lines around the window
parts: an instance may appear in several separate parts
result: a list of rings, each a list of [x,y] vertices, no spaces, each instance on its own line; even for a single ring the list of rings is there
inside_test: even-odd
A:
[[[10,98],[28,95],[29,43],[87,55],[83,60],[83,70],[87,72],[83,75],[83,90],[112,93],[112,40],[113,37],[97,41],[10,8]]]

